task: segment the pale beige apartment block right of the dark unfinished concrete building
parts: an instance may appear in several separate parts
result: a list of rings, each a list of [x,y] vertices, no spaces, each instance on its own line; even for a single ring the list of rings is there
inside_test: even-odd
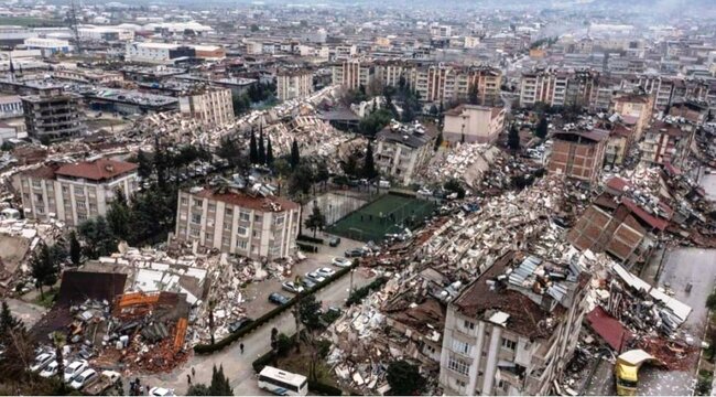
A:
[[[209,87],[178,98],[180,111],[207,125],[223,126],[234,121],[230,88]]]

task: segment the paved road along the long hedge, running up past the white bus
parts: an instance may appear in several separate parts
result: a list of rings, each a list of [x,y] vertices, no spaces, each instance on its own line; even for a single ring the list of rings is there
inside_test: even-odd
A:
[[[364,277],[364,269],[358,269],[354,273],[354,288],[362,287],[371,281],[371,278]],[[343,305],[348,298],[349,286],[350,276],[346,275],[318,291],[317,299],[323,301],[324,307]],[[223,365],[224,373],[230,379],[235,395],[265,395],[257,386],[251,363],[270,350],[271,329],[274,326],[280,332],[293,334],[295,332],[295,323],[291,312],[284,312],[275,320],[220,352],[210,355],[193,355],[185,365],[170,374],[140,376],[142,384],[149,385],[150,387],[161,386],[173,388],[176,394],[183,395],[187,388],[186,375],[191,374],[192,368],[196,371],[194,382],[208,384],[211,380],[213,366],[216,365],[218,367]],[[243,354],[239,350],[239,343],[243,343]]]

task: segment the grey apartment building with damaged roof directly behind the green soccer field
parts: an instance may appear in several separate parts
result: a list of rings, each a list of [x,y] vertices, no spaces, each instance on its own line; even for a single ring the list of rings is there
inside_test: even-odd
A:
[[[421,125],[389,125],[376,135],[376,165],[399,183],[411,184],[415,173],[430,160],[435,132]]]

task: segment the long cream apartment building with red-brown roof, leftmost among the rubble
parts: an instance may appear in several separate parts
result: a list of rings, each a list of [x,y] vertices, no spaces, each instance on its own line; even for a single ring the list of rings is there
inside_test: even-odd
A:
[[[109,159],[43,165],[18,173],[13,183],[26,217],[69,226],[106,215],[118,190],[129,201],[139,185],[137,164]]]

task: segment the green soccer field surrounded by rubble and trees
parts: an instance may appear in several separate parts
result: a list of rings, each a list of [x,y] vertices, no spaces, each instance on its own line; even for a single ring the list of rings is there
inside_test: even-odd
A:
[[[333,233],[359,242],[381,242],[386,234],[413,229],[432,214],[434,204],[414,197],[386,194],[346,215],[333,226]]]

